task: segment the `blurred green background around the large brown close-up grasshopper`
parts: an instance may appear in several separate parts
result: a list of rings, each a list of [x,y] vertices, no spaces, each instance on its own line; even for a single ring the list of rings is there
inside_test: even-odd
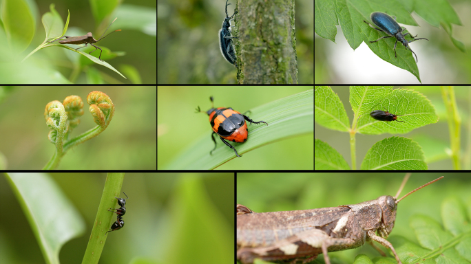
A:
[[[361,203],[381,195],[395,196],[406,173],[238,173],[236,202],[255,212],[306,210]],[[458,197],[467,206],[471,201],[470,173],[412,173],[399,197],[438,177],[443,179],[417,190],[401,200],[397,207],[395,227],[391,236],[404,236],[417,243],[409,227],[413,214],[425,214],[439,223],[441,202],[450,196]],[[267,184],[269,183],[269,184]],[[377,244],[377,243],[376,243]],[[377,244],[381,250],[384,247]],[[353,263],[357,254],[380,256],[370,245],[353,250],[331,252],[333,264]],[[322,254],[318,263],[324,263]]]

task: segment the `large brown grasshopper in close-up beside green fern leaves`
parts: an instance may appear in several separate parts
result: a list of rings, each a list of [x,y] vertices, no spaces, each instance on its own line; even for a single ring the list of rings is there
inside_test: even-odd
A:
[[[390,248],[397,263],[402,264],[392,244],[385,239],[394,227],[397,203],[443,178],[397,199],[408,177],[404,177],[395,197],[386,195],[346,206],[257,213],[237,204],[237,259],[244,264],[253,263],[256,258],[308,263],[322,253],[325,263],[331,264],[327,252],[357,248],[366,241],[373,245],[372,241],[377,241]]]

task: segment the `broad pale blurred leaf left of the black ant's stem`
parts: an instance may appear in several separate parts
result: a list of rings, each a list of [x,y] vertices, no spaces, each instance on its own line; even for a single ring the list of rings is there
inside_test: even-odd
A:
[[[67,241],[85,232],[85,221],[49,175],[6,173],[47,263],[60,263],[59,251]]]

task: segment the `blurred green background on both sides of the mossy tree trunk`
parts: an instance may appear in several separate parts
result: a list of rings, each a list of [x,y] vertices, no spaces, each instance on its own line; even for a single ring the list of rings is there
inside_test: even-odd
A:
[[[236,0],[228,3],[231,5],[227,13],[233,14]],[[300,84],[314,82],[313,3],[295,1]],[[235,67],[224,60],[219,48],[218,32],[226,17],[225,4],[225,0],[159,1],[158,84],[236,83]]]

